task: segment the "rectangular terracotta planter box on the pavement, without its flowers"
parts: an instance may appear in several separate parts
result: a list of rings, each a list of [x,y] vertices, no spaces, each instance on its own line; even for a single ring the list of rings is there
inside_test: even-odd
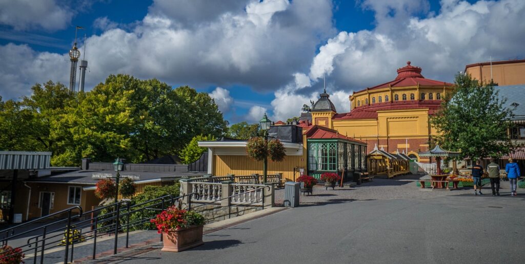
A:
[[[162,233],[162,251],[178,252],[204,244],[202,229],[204,225],[177,228],[167,233]]]

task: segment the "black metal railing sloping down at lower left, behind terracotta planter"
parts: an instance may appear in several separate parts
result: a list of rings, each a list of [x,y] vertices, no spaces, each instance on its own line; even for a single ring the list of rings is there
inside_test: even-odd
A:
[[[0,239],[0,245],[7,245],[9,240],[15,238],[28,237],[27,243],[19,246],[21,251],[15,251],[16,248],[5,251],[3,256],[0,257],[0,262],[3,259],[13,257],[17,254],[27,254],[32,251],[33,262],[37,263],[38,256],[39,262],[44,263],[45,250],[51,248],[57,248],[65,246],[64,248],[64,263],[68,262],[68,259],[72,262],[74,260],[75,243],[79,243],[81,240],[93,239],[93,251],[92,258],[95,259],[97,252],[97,238],[103,235],[114,235],[113,254],[117,254],[118,245],[118,234],[125,232],[125,246],[129,247],[129,232],[130,228],[141,226],[145,223],[149,223],[152,219],[148,215],[145,215],[148,211],[163,211],[167,206],[175,204],[175,201],[180,201],[182,205],[182,199],[185,196],[197,195],[197,193],[185,194],[178,197],[172,195],[165,195],[152,199],[140,204],[130,204],[128,201],[120,201],[118,203],[102,206],[95,210],[83,212],[80,206],[74,206],[66,210],[62,210],[45,217],[40,217],[8,229],[0,231],[0,235],[5,234]],[[186,205],[191,208],[190,204]],[[74,211],[78,210],[77,214],[73,214]],[[138,213],[140,217],[130,222],[130,216]],[[55,217],[67,214],[66,218],[54,220]],[[29,228],[31,224],[40,223],[43,221],[51,221],[49,224],[40,225],[36,228]],[[75,221],[75,223],[73,223]],[[65,226],[64,226],[65,224]],[[58,227],[57,227],[58,226]],[[21,233],[16,233],[22,231]],[[16,233],[16,234],[15,234]],[[37,233],[37,234],[35,234]],[[162,235],[161,235],[162,241]]]

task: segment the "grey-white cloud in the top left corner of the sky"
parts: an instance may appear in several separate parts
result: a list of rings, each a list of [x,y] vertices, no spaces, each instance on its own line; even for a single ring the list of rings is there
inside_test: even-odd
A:
[[[68,7],[55,0],[0,0],[0,25],[12,26],[15,30],[64,29],[73,15]]]

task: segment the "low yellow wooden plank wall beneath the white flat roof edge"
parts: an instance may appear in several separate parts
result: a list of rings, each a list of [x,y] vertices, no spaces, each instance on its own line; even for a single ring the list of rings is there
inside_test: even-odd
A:
[[[283,178],[293,180],[293,168],[306,169],[306,158],[303,156],[286,156],[282,162],[268,160],[268,174],[282,173]],[[262,174],[262,161],[255,161],[248,156],[214,155],[213,163],[213,174],[217,176],[224,176],[228,173],[235,175]],[[299,173],[296,174],[296,177],[299,177]]]

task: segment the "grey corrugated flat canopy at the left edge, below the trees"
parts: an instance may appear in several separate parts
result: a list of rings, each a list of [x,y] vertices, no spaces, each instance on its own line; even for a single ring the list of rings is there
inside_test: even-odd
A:
[[[0,151],[0,170],[37,170],[50,166],[51,152]]]

